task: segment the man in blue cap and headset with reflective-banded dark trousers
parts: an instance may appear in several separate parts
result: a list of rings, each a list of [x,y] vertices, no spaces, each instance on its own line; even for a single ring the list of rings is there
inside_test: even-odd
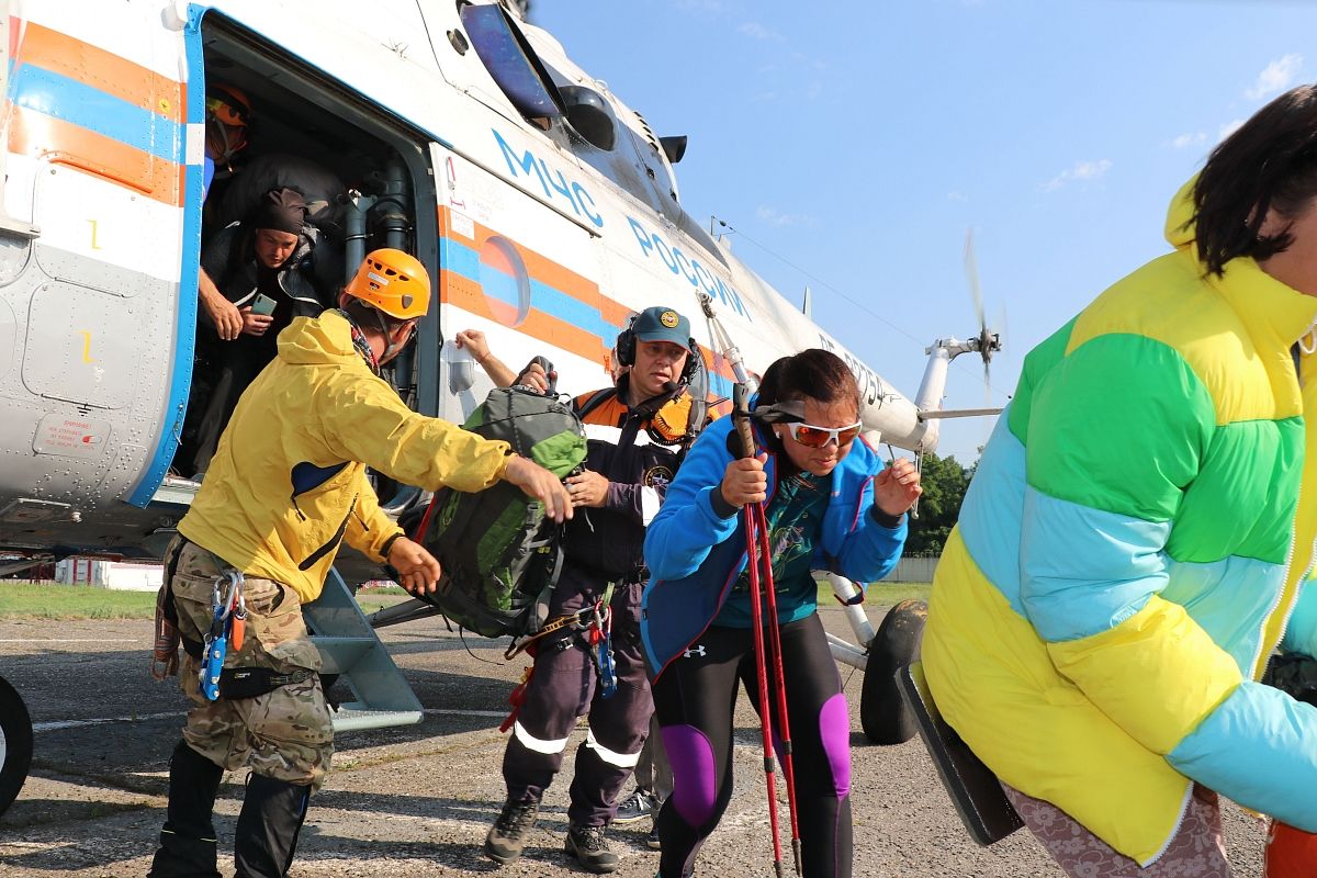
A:
[[[703,426],[691,423],[702,421],[703,409],[694,407],[693,416],[686,392],[702,365],[690,321],[672,308],[632,317],[618,336],[616,358],[627,370],[615,386],[573,400],[589,453],[585,470],[566,479],[577,516],[566,529],[566,561],[549,607],[551,624],[566,624],[529,649],[535,665],[503,756],[507,802],[485,839],[485,854],[500,865],[520,857],[586,711],[590,728],[577,750],[565,848],[589,871],[614,871],[620,862],[605,831],[653,713],[640,649],[645,528]],[[532,383],[541,373],[532,363],[516,383]]]

